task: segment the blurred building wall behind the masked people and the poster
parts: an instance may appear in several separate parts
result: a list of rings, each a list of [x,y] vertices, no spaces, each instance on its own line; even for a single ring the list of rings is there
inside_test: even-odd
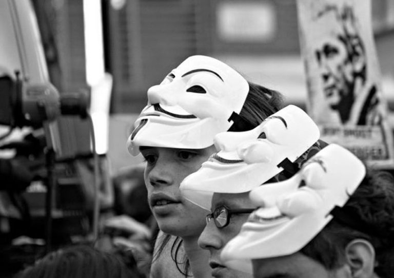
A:
[[[45,11],[44,16],[38,12],[38,19],[43,23],[51,79],[61,91],[91,91],[95,85],[100,87],[100,82],[88,81],[87,58],[92,51],[100,50],[104,42],[102,55],[100,51],[96,55],[99,71],[95,73],[96,80],[103,78],[104,71],[113,78],[109,134],[120,135],[109,136],[114,168],[136,162],[127,154],[125,140],[136,114],[146,104],[147,89],[190,55],[217,57],[249,80],[282,92],[287,103],[305,107],[306,82],[295,0],[33,2],[38,11],[40,5]],[[394,110],[394,2],[371,3],[383,93]],[[102,37],[96,34],[95,39],[87,40],[86,17],[92,13],[92,4],[101,8],[102,18],[95,19],[98,23],[102,19],[103,33]],[[55,34],[52,42],[56,48],[51,48],[51,36],[45,35],[48,26],[45,20],[50,22],[46,31]],[[96,31],[101,30],[100,24],[95,27]]]

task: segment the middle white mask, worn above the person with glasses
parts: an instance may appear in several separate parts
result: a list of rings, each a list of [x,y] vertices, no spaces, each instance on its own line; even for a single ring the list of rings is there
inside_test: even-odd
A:
[[[213,193],[243,193],[282,172],[320,136],[316,123],[300,108],[288,105],[246,132],[215,137],[219,152],[181,183],[183,196],[210,209]],[[295,170],[297,171],[297,170]]]

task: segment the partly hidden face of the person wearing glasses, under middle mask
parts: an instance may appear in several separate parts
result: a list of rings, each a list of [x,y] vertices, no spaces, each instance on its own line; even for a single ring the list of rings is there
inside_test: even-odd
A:
[[[212,212],[221,206],[229,209],[253,208],[249,200],[249,193],[225,194],[214,193],[212,197]],[[212,269],[213,277],[251,277],[250,274],[227,268],[220,259],[223,247],[233,237],[237,236],[241,226],[246,222],[249,213],[233,214],[229,223],[223,228],[216,227],[214,220],[211,219],[204,228],[199,238],[199,245],[210,252],[209,266]]]

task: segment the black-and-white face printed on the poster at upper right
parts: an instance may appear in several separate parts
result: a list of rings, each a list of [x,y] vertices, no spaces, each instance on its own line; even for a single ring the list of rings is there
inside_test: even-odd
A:
[[[325,98],[346,122],[357,97],[356,82],[366,79],[365,49],[356,18],[350,7],[326,7],[313,24],[319,30],[315,56]]]

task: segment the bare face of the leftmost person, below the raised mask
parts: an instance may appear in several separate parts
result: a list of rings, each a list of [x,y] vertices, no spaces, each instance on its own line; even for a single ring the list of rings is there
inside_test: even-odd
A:
[[[198,236],[205,226],[207,211],[184,199],[181,181],[198,170],[215,152],[204,149],[140,147],[147,164],[144,173],[149,206],[159,228],[180,237]]]

